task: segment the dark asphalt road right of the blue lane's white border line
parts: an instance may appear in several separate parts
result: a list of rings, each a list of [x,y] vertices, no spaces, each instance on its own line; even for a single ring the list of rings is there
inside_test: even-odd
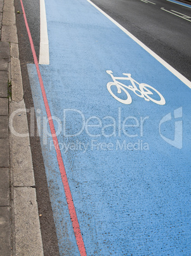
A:
[[[162,11],[174,10],[191,17],[191,8],[166,0],[93,0],[131,34],[191,80],[191,22]]]

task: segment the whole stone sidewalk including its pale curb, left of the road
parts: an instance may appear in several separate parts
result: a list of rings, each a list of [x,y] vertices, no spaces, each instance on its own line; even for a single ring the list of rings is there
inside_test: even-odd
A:
[[[0,0],[0,256],[11,255],[43,256],[43,242],[14,0]]]

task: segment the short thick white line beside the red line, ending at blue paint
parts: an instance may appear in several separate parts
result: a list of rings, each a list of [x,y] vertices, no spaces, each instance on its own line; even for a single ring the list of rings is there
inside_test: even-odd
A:
[[[39,64],[49,65],[49,43],[48,43],[48,31],[46,22],[46,8],[44,0],[40,0],[40,12],[41,12],[41,43],[39,53]]]

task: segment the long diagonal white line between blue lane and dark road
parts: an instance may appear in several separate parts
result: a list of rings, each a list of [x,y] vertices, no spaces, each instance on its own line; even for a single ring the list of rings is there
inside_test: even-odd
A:
[[[105,17],[109,18],[110,21],[112,21],[119,29],[121,29],[123,32],[125,32],[131,39],[133,39],[138,45],[142,46],[144,50],[146,50],[150,55],[152,55],[156,60],[158,60],[165,68],[167,68],[173,75],[175,75],[178,79],[181,80],[181,82],[185,83],[190,89],[191,89],[191,82],[185,78],[185,76],[181,75],[175,68],[173,68],[171,65],[169,65],[165,60],[163,60],[159,55],[157,55],[155,52],[150,50],[146,45],[144,45],[139,39],[137,39],[133,34],[131,34],[129,31],[127,31],[122,25],[120,25],[118,22],[116,22],[112,17],[107,15],[102,9],[100,9],[98,6],[96,6],[94,3],[92,3],[90,0],[87,0],[90,4],[92,4],[100,13],[105,15]]]

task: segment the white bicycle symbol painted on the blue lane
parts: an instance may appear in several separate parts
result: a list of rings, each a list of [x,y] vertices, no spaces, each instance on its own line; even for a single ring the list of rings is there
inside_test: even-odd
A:
[[[127,77],[117,77],[112,75],[112,71],[111,70],[107,70],[106,71],[111,77],[113,82],[109,82],[107,83],[107,90],[109,90],[110,94],[117,99],[117,101],[123,103],[123,104],[131,104],[132,99],[131,96],[128,92],[128,90],[126,90],[125,88],[132,90],[138,97],[144,98],[145,101],[153,101],[156,104],[159,105],[164,105],[166,103],[164,97],[162,96],[162,94],[160,94],[160,92],[158,92],[156,89],[154,89],[154,87],[147,85],[147,83],[138,83],[135,81],[135,79],[133,79],[131,77],[131,74],[126,74],[126,73],[122,73],[122,75],[125,75]],[[131,85],[124,85],[123,83],[117,81],[117,80],[129,80],[131,82]],[[136,87],[135,83],[138,85],[138,87]],[[117,94],[121,94],[121,92],[125,92],[127,99],[121,99],[120,97],[118,97],[117,95],[114,94],[114,92],[112,92],[111,87],[117,87]],[[156,94],[158,94],[158,96],[160,97],[160,99],[153,99],[151,96],[154,94],[152,91],[156,92]]]

